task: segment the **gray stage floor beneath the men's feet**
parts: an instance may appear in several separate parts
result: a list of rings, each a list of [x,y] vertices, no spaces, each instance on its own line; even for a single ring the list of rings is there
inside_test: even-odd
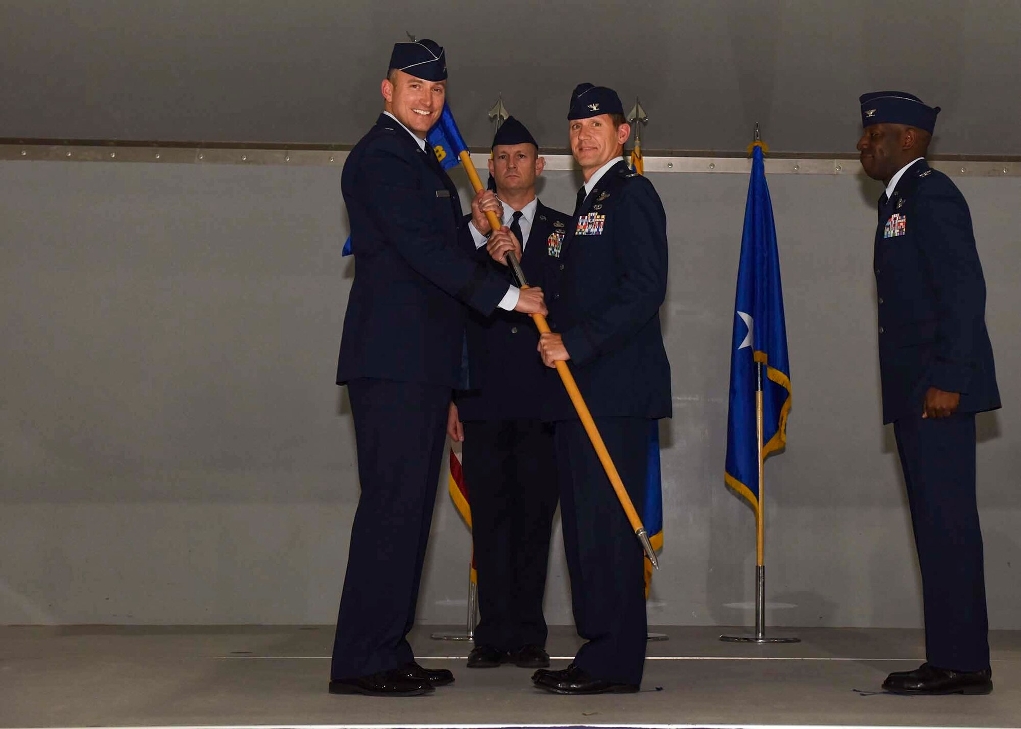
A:
[[[900,726],[1021,727],[1021,631],[994,631],[988,696],[878,693],[914,668],[922,632],[776,629],[800,643],[717,640],[720,628],[652,627],[642,691],[557,696],[514,666],[468,670],[466,642],[411,635],[422,663],[454,671],[429,696],[327,693],[332,626],[0,628],[0,727]],[[738,631],[740,632],[740,631]],[[579,644],[550,629],[553,667]]]

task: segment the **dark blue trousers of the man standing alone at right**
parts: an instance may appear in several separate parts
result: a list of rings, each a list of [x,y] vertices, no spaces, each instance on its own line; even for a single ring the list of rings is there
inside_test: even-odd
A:
[[[975,502],[975,415],[893,424],[922,571],[926,661],[989,667],[982,533]]]

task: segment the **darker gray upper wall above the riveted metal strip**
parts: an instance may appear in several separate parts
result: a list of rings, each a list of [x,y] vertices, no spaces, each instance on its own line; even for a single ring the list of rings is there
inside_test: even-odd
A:
[[[391,44],[439,40],[469,144],[502,91],[564,147],[582,81],[639,96],[648,149],[853,152],[858,96],[944,111],[933,152],[1021,154],[1013,0],[4,0],[0,137],[352,144]]]

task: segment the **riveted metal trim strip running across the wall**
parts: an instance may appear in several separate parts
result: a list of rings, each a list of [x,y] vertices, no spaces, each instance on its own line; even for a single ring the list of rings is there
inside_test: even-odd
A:
[[[343,165],[347,150],[284,149],[259,147],[115,146],[72,144],[0,144],[0,161],[149,162],[154,164],[253,164],[324,166]],[[578,169],[568,154],[546,154],[546,169]],[[480,169],[489,155],[474,152]],[[751,160],[736,156],[645,156],[646,173],[741,174],[751,169]],[[934,159],[930,164],[954,177],[1021,177],[1021,161],[988,159]],[[854,158],[766,158],[769,175],[861,175]]]

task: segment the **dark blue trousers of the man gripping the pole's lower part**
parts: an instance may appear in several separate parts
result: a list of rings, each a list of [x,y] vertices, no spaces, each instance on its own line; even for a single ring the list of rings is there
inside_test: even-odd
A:
[[[641,516],[649,421],[596,418],[614,465]],[[642,549],[579,421],[556,423],[564,549],[578,635],[575,664],[591,676],[641,683],[645,664]]]

